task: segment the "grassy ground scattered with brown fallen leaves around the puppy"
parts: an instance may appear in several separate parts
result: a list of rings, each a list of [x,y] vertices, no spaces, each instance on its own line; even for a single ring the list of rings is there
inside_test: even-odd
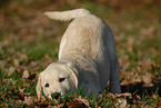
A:
[[[0,107],[161,107],[161,2],[159,0],[0,0]],[[121,95],[109,87],[95,97],[81,92],[37,100],[38,75],[58,60],[69,22],[47,10],[85,8],[112,29],[120,62]]]

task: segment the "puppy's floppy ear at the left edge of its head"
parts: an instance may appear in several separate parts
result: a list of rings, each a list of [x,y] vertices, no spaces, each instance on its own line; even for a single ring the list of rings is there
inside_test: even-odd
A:
[[[36,88],[36,90],[37,90],[37,96],[38,96],[38,100],[40,99],[40,96],[41,96],[41,88],[42,88],[42,86],[41,86],[41,80],[42,80],[42,73],[43,73],[43,71],[40,72],[40,75],[39,75],[39,79],[38,79],[38,84],[37,84],[37,88]]]

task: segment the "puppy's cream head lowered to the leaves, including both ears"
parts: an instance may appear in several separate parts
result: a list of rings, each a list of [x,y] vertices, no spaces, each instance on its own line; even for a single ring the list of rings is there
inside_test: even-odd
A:
[[[61,63],[51,63],[39,75],[37,84],[38,99],[40,99],[41,90],[47,97],[53,99],[73,91],[77,86],[78,78],[69,67]]]

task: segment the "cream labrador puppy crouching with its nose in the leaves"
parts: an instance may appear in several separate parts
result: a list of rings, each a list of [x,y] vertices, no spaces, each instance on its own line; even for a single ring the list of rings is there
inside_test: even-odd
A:
[[[112,31],[100,18],[85,9],[44,13],[54,20],[72,20],[62,36],[59,61],[49,65],[39,76],[37,95],[52,99],[81,89],[95,95],[107,87],[121,92],[119,62]]]

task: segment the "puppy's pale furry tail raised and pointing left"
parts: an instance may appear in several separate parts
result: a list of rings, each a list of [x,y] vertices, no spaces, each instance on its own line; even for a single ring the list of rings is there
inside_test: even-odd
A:
[[[91,14],[89,10],[85,9],[74,9],[69,11],[49,11],[44,12],[50,19],[60,20],[60,21],[69,21],[79,17]]]

